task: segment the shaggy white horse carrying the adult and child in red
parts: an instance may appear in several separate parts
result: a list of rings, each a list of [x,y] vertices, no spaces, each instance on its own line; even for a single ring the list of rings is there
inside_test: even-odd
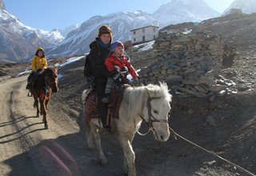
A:
[[[90,90],[83,91],[83,103],[89,93]],[[138,87],[130,86],[124,91],[119,109],[119,119],[114,118],[112,120],[112,128],[124,151],[123,170],[129,176],[136,175],[135,154],[131,143],[142,120],[150,126],[156,140],[166,142],[170,137],[168,114],[171,98],[168,86],[161,82],[159,86],[152,84]],[[84,110],[83,106],[83,113],[85,114]],[[89,148],[94,149],[95,140],[101,162],[106,163],[99,135],[102,130],[101,124],[98,118],[90,120],[88,126],[86,126],[86,141]]]

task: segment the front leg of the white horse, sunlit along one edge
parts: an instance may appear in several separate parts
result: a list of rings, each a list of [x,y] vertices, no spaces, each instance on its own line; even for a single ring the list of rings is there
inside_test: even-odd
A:
[[[128,164],[128,175],[129,176],[135,176],[136,175],[136,169],[135,169],[135,154],[133,147],[131,146],[131,142],[129,138],[127,138],[125,135],[122,135],[122,138],[118,138],[119,142],[121,143],[122,149],[124,151],[124,171],[126,171],[126,166]]]

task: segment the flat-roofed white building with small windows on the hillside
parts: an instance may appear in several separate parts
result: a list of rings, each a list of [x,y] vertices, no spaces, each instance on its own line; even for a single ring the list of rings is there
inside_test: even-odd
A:
[[[130,30],[130,42],[134,43],[142,43],[149,42],[158,38],[158,26],[145,26],[138,29]]]

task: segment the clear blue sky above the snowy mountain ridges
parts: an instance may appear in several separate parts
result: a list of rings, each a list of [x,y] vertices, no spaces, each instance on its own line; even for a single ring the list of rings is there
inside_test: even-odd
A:
[[[6,10],[26,26],[42,30],[64,29],[85,22],[94,15],[118,11],[142,10],[152,13],[171,0],[3,0]],[[191,0],[193,1],[193,0]],[[234,0],[204,0],[211,8],[222,13]]]

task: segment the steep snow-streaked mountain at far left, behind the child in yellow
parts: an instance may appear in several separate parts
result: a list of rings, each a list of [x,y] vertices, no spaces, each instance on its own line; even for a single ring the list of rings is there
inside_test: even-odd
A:
[[[34,54],[38,46],[53,46],[64,39],[58,33],[25,26],[6,11],[3,1],[0,0],[0,62],[20,62]]]

